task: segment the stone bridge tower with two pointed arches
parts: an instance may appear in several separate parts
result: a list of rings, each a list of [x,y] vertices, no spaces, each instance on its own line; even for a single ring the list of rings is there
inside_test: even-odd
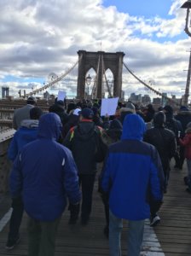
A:
[[[77,97],[84,98],[86,74],[93,68],[96,72],[96,97],[101,99],[103,72],[110,69],[113,73],[113,97],[121,97],[122,70],[124,52],[108,53],[104,51],[89,52],[78,50],[78,87]],[[103,67],[104,66],[104,67]]]

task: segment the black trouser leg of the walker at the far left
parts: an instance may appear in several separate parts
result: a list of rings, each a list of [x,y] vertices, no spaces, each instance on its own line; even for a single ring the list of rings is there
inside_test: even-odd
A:
[[[16,241],[19,237],[20,224],[24,212],[23,202],[21,197],[14,198],[12,201],[13,212],[9,223],[9,241]]]

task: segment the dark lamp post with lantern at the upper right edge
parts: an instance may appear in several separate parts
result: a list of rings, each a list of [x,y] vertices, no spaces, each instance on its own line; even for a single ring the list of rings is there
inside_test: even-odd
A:
[[[181,8],[183,9],[187,9],[187,15],[186,15],[186,24],[185,24],[185,28],[184,31],[188,34],[188,37],[191,38],[191,32],[189,32],[189,27],[191,24],[188,25],[188,20],[190,23],[190,18],[189,18],[189,9],[191,9],[191,0],[188,0],[187,2],[183,3]],[[189,84],[190,84],[190,76],[191,76],[191,52],[190,52],[190,56],[189,56],[189,65],[188,65],[188,75],[187,75],[187,84],[186,84],[186,89],[185,89],[185,93],[183,96],[183,105],[188,106],[188,96],[189,96]]]

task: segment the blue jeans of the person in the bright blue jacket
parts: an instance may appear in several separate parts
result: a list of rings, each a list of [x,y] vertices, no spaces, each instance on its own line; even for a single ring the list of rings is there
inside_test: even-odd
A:
[[[123,219],[117,218],[109,211],[109,252],[110,256],[121,256],[121,230],[123,228]],[[129,220],[127,255],[139,256],[142,248],[142,239],[144,232],[144,219]]]

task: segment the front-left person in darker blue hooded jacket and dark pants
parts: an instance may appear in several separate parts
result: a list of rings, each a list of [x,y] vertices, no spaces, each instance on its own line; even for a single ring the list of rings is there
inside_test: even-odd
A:
[[[61,126],[56,113],[43,114],[37,140],[21,150],[10,175],[11,195],[22,195],[29,215],[29,256],[54,255],[55,234],[67,197],[72,207],[78,207],[81,199],[72,153],[57,143]]]

